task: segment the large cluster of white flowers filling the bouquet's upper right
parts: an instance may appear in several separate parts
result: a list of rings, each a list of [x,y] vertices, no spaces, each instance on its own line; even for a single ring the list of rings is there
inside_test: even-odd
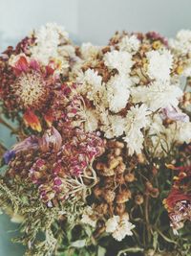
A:
[[[188,32],[178,35],[178,39],[183,37],[190,40]],[[191,123],[187,117],[184,124],[182,114],[178,114],[183,91],[180,89],[180,77],[173,73],[177,57],[171,48],[162,46],[159,49],[145,48],[143,58],[138,59],[140,53],[142,55],[138,52],[141,47],[142,42],[137,35],[122,36],[117,46],[110,46],[106,51],[104,47],[82,44],[81,62],[74,75],[81,84],[80,93],[91,103],[84,106],[85,129],[100,129],[109,139],[121,137],[130,155],[142,151],[147,139],[143,130],[148,130],[147,136],[151,136],[153,148],[159,144],[158,151],[166,145],[170,147],[175,141],[189,143],[191,140]],[[141,61],[142,67],[139,68]],[[82,71],[83,65],[90,67]],[[165,127],[162,125],[162,111],[171,108],[175,108],[176,113],[166,118],[171,118],[174,123]],[[174,137],[172,129],[177,132]]]

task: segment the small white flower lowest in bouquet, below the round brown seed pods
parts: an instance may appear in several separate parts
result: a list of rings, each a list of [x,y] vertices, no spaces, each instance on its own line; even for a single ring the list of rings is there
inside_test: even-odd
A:
[[[126,236],[132,236],[134,227],[135,225],[129,221],[128,214],[124,214],[121,218],[113,216],[106,222],[106,232],[112,233],[117,241],[123,240]]]

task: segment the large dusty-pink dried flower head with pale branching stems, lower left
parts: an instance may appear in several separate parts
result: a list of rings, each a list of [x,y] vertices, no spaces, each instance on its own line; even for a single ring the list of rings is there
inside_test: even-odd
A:
[[[49,128],[38,139],[38,145],[37,149],[31,149],[34,153],[31,154],[32,164],[26,178],[30,177],[40,198],[49,206],[53,205],[54,199],[64,200],[80,195],[86,188],[83,183],[86,170],[104,151],[104,143],[98,133],[86,133],[79,128],[63,128],[61,133]],[[23,168],[26,170],[25,163],[17,167],[17,175]]]

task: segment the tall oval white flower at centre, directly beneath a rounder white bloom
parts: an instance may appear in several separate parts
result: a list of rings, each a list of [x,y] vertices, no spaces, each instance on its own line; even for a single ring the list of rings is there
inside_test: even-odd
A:
[[[131,80],[125,76],[116,75],[107,82],[107,100],[111,111],[117,113],[124,108],[129,99]]]

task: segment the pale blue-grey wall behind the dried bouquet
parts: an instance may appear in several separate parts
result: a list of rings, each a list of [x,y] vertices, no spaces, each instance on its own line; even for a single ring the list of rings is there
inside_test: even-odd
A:
[[[191,0],[0,0],[0,52],[46,22],[63,25],[75,42],[105,44],[117,30],[174,36],[191,29]],[[13,139],[0,127],[0,139]],[[0,216],[0,256],[22,256],[11,244],[17,225]]]

